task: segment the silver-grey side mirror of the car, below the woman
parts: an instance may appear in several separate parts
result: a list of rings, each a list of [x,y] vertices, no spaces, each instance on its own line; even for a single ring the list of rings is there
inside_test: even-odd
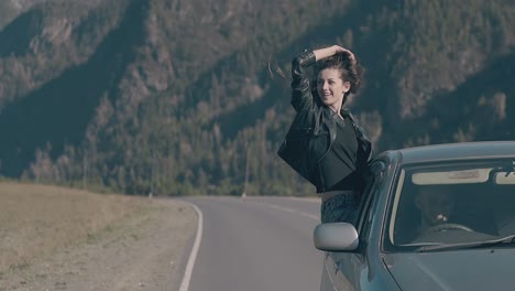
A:
[[[349,223],[319,224],[314,233],[315,247],[326,251],[353,251],[358,249],[358,230]]]

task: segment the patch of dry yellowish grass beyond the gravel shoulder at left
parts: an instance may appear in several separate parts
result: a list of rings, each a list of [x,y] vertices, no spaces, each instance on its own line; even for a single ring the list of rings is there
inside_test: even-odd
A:
[[[116,222],[145,209],[149,200],[57,186],[0,183],[0,274],[95,239]]]

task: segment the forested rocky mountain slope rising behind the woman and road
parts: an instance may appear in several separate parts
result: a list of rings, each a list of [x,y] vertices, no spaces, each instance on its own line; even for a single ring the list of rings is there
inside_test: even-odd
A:
[[[251,193],[309,193],[275,154],[293,110],[288,79],[267,64],[287,73],[304,47],[332,43],[366,69],[351,106],[376,151],[515,134],[509,1],[98,0],[20,11],[0,31],[4,176],[240,194],[246,171]]]

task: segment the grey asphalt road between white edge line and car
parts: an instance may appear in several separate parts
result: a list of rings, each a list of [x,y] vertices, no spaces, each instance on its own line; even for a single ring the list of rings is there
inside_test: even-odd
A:
[[[317,200],[190,197],[202,216],[188,291],[319,290]]]

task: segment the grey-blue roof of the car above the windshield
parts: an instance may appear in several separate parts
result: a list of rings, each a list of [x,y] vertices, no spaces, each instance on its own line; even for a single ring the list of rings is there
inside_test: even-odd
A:
[[[429,161],[515,158],[515,141],[456,142],[404,148],[388,151],[402,164]]]

